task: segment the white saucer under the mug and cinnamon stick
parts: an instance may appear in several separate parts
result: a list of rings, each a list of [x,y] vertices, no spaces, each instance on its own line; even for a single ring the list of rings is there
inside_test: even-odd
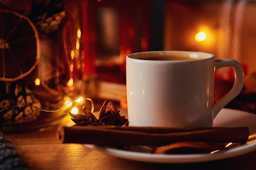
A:
[[[126,110],[121,110],[120,114],[127,114]],[[137,148],[137,150],[118,150],[95,145],[85,144],[86,147],[107,155],[130,159],[135,161],[150,163],[195,163],[204,161],[213,161],[226,159],[243,155],[256,150],[256,115],[239,110],[224,108],[213,121],[215,127],[236,127],[247,126],[250,130],[250,137],[246,144],[235,146],[226,151],[216,152],[214,154],[150,154],[146,148]]]

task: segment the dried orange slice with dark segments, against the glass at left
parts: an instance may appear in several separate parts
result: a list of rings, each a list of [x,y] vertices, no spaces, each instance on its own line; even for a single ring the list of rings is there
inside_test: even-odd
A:
[[[31,73],[40,60],[36,27],[16,12],[0,10],[0,81],[16,81]]]

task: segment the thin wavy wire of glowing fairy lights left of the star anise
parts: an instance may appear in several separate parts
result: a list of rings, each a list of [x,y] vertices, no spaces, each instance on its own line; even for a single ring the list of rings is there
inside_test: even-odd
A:
[[[38,107],[30,105],[30,104],[20,104],[20,105],[10,106],[10,107],[4,108],[4,109],[0,110],[0,113],[5,111],[5,110],[9,110],[9,109],[16,108],[16,107],[24,107],[24,106],[30,106],[30,107],[36,108],[36,109],[44,111],[44,112],[58,112],[61,109],[63,109],[65,106],[73,104],[74,102],[81,102],[81,100],[89,100],[91,102],[91,105],[92,105],[91,112],[93,113],[94,112],[94,104],[92,102],[92,99],[90,99],[90,98],[78,98],[74,101],[67,102],[66,104],[64,104],[63,106],[58,108],[57,110],[47,110],[47,109],[43,109],[43,108],[38,108]]]

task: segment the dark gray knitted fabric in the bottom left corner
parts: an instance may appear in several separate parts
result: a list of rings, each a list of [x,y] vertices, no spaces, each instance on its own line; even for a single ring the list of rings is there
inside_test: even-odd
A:
[[[27,170],[22,159],[11,141],[0,133],[0,170]]]

